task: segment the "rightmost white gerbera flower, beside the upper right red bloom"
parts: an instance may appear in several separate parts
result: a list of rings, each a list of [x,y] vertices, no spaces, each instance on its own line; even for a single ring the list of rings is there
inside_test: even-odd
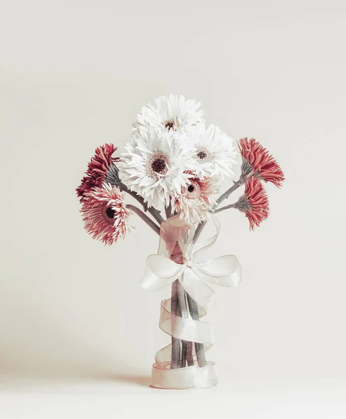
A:
[[[218,126],[206,128],[201,124],[189,130],[189,146],[192,147],[188,166],[200,177],[233,175],[232,165],[236,164],[236,149],[233,140]]]

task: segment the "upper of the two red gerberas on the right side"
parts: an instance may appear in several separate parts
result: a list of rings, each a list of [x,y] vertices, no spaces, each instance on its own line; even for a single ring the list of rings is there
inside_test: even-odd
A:
[[[254,138],[241,138],[238,146],[243,157],[241,171],[244,179],[255,176],[265,182],[272,182],[275,186],[281,186],[284,174],[268,150]]]

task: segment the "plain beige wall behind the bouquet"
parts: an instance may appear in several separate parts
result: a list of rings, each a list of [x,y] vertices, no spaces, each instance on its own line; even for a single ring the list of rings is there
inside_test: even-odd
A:
[[[136,230],[104,248],[74,189],[94,148],[122,149],[140,106],[170,92],[201,101],[233,138],[256,137],[287,178],[268,185],[271,216],[254,233],[237,212],[219,216],[212,253],[243,265],[208,315],[220,381],[345,385],[345,12],[343,1],[0,2],[3,390],[13,377],[145,377],[168,343],[157,328],[168,289],[139,287],[157,237],[134,216]]]

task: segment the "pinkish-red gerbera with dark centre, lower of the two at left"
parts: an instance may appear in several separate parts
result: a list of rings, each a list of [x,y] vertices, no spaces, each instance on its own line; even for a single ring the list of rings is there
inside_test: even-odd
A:
[[[110,184],[102,188],[94,187],[85,194],[82,201],[85,230],[93,239],[104,244],[113,244],[129,231],[129,210],[125,205],[124,194]]]

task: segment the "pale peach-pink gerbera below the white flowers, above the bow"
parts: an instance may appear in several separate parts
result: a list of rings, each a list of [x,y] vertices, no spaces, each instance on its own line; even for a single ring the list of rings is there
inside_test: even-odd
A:
[[[182,186],[181,192],[175,197],[173,210],[188,223],[208,221],[218,191],[217,177],[191,177],[189,185]]]

